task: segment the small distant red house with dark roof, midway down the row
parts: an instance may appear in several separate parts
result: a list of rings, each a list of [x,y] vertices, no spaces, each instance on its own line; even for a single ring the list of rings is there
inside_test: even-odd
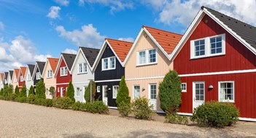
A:
[[[55,72],[56,78],[56,97],[65,97],[69,81],[72,81],[70,70],[74,63],[76,54],[61,53]]]

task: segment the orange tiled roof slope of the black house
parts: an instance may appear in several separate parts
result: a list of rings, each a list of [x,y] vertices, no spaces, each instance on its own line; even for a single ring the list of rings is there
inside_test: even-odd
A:
[[[128,41],[115,40],[112,38],[105,38],[105,39],[106,41],[109,42],[109,44],[112,46],[112,49],[115,51],[119,59],[123,62],[128,52],[130,51],[133,43]]]

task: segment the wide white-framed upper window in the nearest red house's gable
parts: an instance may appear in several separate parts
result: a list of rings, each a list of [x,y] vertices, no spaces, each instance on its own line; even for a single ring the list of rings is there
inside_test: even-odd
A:
[[[190,41],[190,51],[191,59],[225,54],[225,34]]]

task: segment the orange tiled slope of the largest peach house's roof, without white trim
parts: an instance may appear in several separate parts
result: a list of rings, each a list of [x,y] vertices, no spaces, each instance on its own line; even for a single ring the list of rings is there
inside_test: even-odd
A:
[[[168,31],[163,31],[157,28],[151,28],[149,26],[143,26],[150,32],[151,36],[158,41],[158,44],[167,52],[171,54],[174,51],[175,47],[179,43],[179,40],[182,38],[182,35],[177,33],[171,33]]]

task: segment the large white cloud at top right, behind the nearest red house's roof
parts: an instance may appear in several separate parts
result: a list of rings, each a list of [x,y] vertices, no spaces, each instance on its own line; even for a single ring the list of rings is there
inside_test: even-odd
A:
[[[158,2],[154,0],[142,1],[146,4],[150,4],[151,7],[159,12],[157,22],[166,25],[173,25],[179,23],[183,26],[189,25],[195,15],[200,10],[201,6],[206,6],[211,9],[222,12],[230,17],[235,17],[238,20],[242,20],[246,23],[256,25],[256,1],[255,0],[188,0],[188,1],[167,1],[160,0]]]

